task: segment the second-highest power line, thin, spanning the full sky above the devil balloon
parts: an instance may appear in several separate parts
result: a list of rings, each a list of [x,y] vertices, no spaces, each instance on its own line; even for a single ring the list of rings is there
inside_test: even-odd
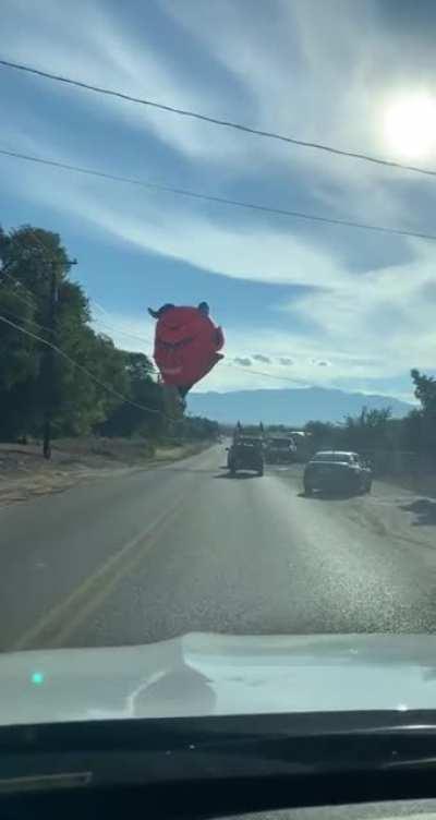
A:
[[[130,185],[138,185],[140,188],[152,189],[155,191],[164,191],[166,193],[172,193],[178,196],[187,196],[193,200],[202,200],[206,202],[215,202],[220,205],[232,205],[239,208],[247,208],[249,210],[258,210],[266,214],[276,214],[277,216],[287,216],[294,219],[304,219],[311,222],[324,222],[327,225],[339,225],[346,228],[359,228],[361,230],[376,231],[378,233],[389,233],[400,237],[412,237],[414,239],[427,239],[436,241],[436,234],[425,233],[420,231],[405,230],[401,228],[390,228],[380,225],[370,225],[367,222],[358,222],[351,219],[334,219],[326,216],[317,216],[316,214],[304,214],[300,210],[287,210],[286,208],[275,208],[268,205],[258,205],[252,202],[243,202],[242,200],[229,200],[223,196],[215,196],[213,194],[202,194],[198,191],[191,191],[183,188],[172,188],[171,185],[161,185],[157,182],[147,182],[146,180],[138,180],[132,177],[121,177],[112,173],[106,173],[105,171],[97,171],[93,168],[82,168],[81,166],[69,165],[66,162],[58,162],[55,159],[46,159],[44,157],[35,157],[29,154],[21,154],[13,150],[5,150],[0,148],[0,155],[7,157],[14,157],[15,159],[24,159],[28,162],[37,162],[38,165],[51,166],[53,168],[61,168],[62,170],[73,171],[76,173],[85,173],[90,177],[99,177],[101,179],[108,179],[112,182],[124,182]]]

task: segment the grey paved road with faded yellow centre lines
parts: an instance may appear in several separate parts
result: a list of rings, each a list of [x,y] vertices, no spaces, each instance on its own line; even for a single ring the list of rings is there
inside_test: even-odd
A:
[[[0,509],[2,650],[191,630],[436,630],[436,503],[375,483],[304,498],[301,468],[230,479],[214,447]]]

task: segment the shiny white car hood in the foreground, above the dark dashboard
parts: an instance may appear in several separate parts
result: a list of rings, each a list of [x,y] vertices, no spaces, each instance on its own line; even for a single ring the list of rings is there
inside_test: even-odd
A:
[[[0,725],[436,709],[436,636],[230,637],[0,655]]]

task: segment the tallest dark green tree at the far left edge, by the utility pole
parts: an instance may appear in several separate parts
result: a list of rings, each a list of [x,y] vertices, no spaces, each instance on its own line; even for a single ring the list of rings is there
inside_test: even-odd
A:
[[[24,433],[39,430],[48,405],[55,407],[62,401],[53,372],[59,362],[55,363],[53,358],[53,366],[49,366],[45,342],[57,342],[50,327],[50,294],[53,282],[59,290],[64,286],[71,263],[58,234],[31,226],[9,233],[0,229],[0,261],[3,318],[0,400],[4,410],[1,427],[2,434],[10,436],[20,430]],[[11,328],[4,319],[13,321],[22,329]]]

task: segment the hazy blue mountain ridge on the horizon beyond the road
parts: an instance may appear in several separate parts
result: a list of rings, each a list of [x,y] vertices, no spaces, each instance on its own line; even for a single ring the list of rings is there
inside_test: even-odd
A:
[[[234,393],[193,393],[189,398],[189,412],[205,415],[219,422],[245,424],[291,424],[301,426],[307,421],[342,421],[344,415],[356,415],[362,407],[380,410],[390,407],[392,415],[400,418],[413,405],[389,396],[347,393],[324,387],[302,387],[284,390],[237,390]]]

